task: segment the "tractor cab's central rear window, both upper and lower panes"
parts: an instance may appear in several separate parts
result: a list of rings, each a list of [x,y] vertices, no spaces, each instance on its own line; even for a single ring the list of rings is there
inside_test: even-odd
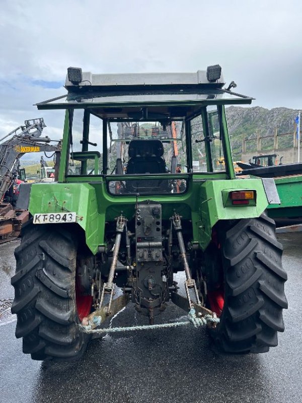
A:
[[[109,174],[134,176],[109,180],[111,194],[166,194],[186,190],[186,179],[181,177],[186,169],[183,121],[111,123],[109,133]],[[180,178],[165,178],[171,174],[179,174]],[[136,179],[137,175],[144,177]]]

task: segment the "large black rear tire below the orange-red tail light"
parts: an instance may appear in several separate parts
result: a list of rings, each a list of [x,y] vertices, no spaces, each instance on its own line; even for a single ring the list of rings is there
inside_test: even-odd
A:
[[[287,308],[287,274],[275,223],[263,213],[219,232],[216,253],[221,255],[223,284],[208,293],[207,306],[218,307],[220,316],[211,337],[226,353],[265,353],[278,344],[277,332],[284,331],[282,309]]]

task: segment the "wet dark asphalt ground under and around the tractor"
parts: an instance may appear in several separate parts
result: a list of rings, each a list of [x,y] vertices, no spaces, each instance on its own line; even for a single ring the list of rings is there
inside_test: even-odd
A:
[[[15,338],[14,317],[0,321],[0,402],[298,403],[302,402],[302,233],[280,234],[288,273],[285,332],[259,355],[220,355],[206,329],[180,327],[106,335],[81,361],[32,361]],[[0,245],[0,300],[13,298],[18,241]],[[179,284],[182,282],[179,276]],[[184,319],[174,305],[157,323]],[[146,323],[127,306],[112,326]]]

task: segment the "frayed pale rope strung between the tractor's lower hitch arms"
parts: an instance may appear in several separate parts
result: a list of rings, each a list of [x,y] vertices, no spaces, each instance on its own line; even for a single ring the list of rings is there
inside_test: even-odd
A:
[[[173,322],[173,323],[160,323],[160,324],[152,324],[152,325],[136,325],[136,326],[128,326],[128,327],[106,327],[104,329],[93,329],[92,326],[100,326],[101,325],[101,317],[94,316],[92,323],[90,322],[87,326],[80,324],[80,328],[84,333],[116,333],[119,331],[136,331],[136,330],[152,330],[152,329],[161,329],[161,328],[169,328],[169,327],[178,327],[184,326],[192,323],[194,327],[206,326],[208,323],[215,326],[219,323],[219,318],[214,314],[204,315],[197,317],[194,308],[191,308],[188,313],[188,320],[183,322]]]

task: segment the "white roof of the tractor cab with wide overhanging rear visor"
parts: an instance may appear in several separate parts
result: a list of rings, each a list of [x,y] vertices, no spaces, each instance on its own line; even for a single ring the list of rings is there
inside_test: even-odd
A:
[[[113,120],[177,120],[193,116],[202,106],[250,104],[253,100],[223,89],[222,75],[209,81],[207,71],[201,70],[138,74],[81,71],[81,79],[74,83],[67,75],[67,94],[36,104],[38,109],[91,109],[93,114]]]

